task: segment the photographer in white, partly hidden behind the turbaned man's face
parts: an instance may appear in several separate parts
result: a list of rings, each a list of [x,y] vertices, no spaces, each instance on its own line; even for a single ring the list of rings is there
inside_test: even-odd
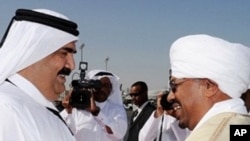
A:
[[[160,92],[157,96],[156,110],[144,124],[139,133],[139,141],[183,141],[189,134],[187,129],[181,129],[175,118],[176,109],[179,105],[169,103],[167,96],[169,92]]]

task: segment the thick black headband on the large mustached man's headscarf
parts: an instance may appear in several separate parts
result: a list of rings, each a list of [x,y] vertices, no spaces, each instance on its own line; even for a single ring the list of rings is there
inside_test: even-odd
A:
[[[79,31],[77,30],[77,24],[74,22],[71,22],[69,20],[65,20],[59,17],[55,17],[52,15],[36,12],[33,10],[28,9],[18,9],[16,10],[16,15],[12,18],[3,38],[0,43],[0,47],[2,46],[8,32],[9,28],[12,25],[13,20],[16,21],[30,21],[30,22],[36,22],[44,25],[48,25],[54,28],[57,28],[59,30],[68,32],[70,34],[73,34],[75,36],[79,35]]]

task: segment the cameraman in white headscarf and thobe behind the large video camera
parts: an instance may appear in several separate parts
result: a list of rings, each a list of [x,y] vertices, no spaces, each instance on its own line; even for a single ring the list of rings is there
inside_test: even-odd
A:
[[[127,131],[127,115],[119,77],[105,70],[92,70],[87,73],[86,79],[100,80],[101,88],[93,92],[89,106],[71,110],[67,105],[61,112],[62,117],[78,141],[122,141]]]

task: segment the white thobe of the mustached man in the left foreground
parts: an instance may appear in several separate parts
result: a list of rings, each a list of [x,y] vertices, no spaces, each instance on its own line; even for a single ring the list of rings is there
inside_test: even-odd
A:
[[[55,106],[18,74],[0,85],[0,141],[74,141],[67,126],[46,107]],[[46,82],[45,82],[46,83]]]

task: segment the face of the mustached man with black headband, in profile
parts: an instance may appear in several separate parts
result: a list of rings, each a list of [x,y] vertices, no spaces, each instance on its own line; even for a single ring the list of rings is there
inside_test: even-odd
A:
[[[54,101],[65,91],[65,74],[59,74],[59,72],[63,68],[70,71],[75,68],[73,58],[75,52],[75,43],[70,42],[46,58],[27,67],[20,74],[31,81],[48,100]]]

